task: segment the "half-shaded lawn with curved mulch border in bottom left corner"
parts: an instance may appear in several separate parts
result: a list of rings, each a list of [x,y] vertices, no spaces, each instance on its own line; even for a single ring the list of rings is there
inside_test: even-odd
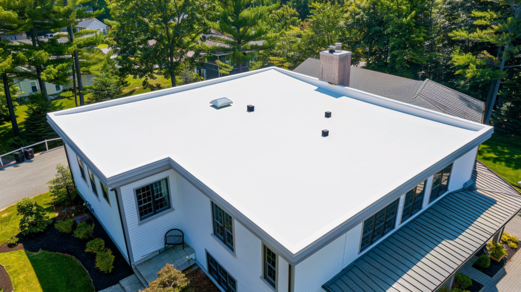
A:
[[[87,272],[74,258],[56,252],[16,250],[0,253],[17,292],[92,292]]]

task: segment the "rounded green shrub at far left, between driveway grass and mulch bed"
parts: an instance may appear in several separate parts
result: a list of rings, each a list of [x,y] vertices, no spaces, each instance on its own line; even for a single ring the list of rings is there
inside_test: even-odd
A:
[[[44,231],[52,222],[45,209],[33,199],[23,198],[16,204],[16,210],[18,215],[23,215],[20,219],[20,231],[23,235]]]

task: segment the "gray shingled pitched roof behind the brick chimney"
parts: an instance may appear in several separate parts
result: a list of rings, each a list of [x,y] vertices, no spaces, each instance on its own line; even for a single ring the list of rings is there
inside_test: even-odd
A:
[[[308,58],[293,71],[320,78],[319,70],[320,60]],[[407,79],[359,67],[351,67],[349,87],[478,123],[485,109],[482,101],[432,80]]]

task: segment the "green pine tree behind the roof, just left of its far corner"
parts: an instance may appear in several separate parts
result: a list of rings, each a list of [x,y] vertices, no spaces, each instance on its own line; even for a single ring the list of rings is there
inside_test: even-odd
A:
[[[210,47],[210,49],[230,52],[234,64],[237,64],[238,72],[241,73],[242,65],[255,55],[254,52],[269,48],[269,43],[266,41],[273,35],[270,34],[265,20],[280,4],[251,6],[252,0],[217,0],[217,2],[218,22],[207,21],[207,23],[210,28],[222,35],[214,34],[208,38],[223,45]]]

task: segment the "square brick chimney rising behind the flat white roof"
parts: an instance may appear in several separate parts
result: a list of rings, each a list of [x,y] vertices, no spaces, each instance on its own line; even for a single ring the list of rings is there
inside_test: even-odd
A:
[[[342,44],[329,46],[329,50],[320,52],[319,79],[336,85],[349,86],[351,73],[351,52],[342,50]]]

